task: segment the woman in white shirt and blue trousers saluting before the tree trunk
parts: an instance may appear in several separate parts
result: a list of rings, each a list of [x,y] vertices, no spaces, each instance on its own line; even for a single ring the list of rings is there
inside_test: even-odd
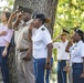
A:
[[[33,43],[33,59],[34,59],[34,73],[35,82],[44,83],[44,72],[46,72],[46,83],[49,83],[49,74],[52,66],[52,39],[49,30],[44,23],[50,20],[44,14],[33,15],[33,28],[38,30],[32,34]]]

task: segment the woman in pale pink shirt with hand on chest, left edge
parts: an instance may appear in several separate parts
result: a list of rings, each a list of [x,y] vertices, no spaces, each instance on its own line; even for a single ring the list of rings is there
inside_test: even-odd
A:
[[[9,43],[11,41],[13,30],[8,28],[8,20],[10,18],[10,12],[1,13],[0,23],[0,66],[3,83],[9,83],[9,70],[7,65],[8,54],[9,54]]]

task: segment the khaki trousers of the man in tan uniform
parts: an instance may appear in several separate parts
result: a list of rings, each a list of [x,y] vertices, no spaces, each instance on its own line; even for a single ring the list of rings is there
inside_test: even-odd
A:
[[[35,83],[33,73],[33,61],[21,59],[27,52],[18,52],[18,83]]]

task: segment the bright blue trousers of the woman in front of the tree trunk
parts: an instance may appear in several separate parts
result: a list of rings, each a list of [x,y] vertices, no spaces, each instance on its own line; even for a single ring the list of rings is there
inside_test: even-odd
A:
[[[51,64],[53,59],[51,60]],[[44,83],[45,59],[34,59],[35,83]],[[51,71],[46,70],[45,83],[50,83],[49,76]]]

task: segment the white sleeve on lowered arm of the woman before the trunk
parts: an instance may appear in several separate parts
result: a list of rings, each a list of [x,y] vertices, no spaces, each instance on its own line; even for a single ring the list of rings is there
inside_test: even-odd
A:
[[[49,43],[52,43],[52,39],[51,39],[51,34],[49,31],[43,31],[43,42],[45,43],[45,45],[48,45]]]

